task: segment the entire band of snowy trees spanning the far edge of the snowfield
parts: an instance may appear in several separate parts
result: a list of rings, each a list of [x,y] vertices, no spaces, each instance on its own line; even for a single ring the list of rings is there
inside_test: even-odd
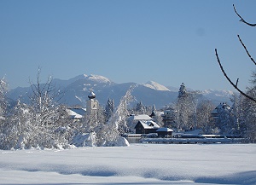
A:
[[[74,121],[67,113],[67,106],[58,103],[55,90],[49,78],[46,84],[32,84],[30,104],[17,101],[14,107],[9,107],[7,98],[8,84],[0,80],[0,149],[20,148],[70,148],[73,145],[84,146],[114,146],[119,136],[134,132],[131,114],[148,114],[156,112],[154,106],[143,106],[134,101],[131,95],[135,87],[127,90],[121,98],[118,107],[108,99],[106,107],[100,106],[96,115],[85,114],[84,119]],[[256,95],[256,72],[253,72],[252,87],[247,88],[247,94]],[[237,135],[246,138],[245,142],[256,142],[256,104],[243,95],[233,95],[231,106],[220,104],[216,109],[217,119],[213,119],[212,111],[216,106],[212,101],[201,98],[198,91],[187,91],[181,84],[177,101],[162,107],[159,111],[171,110],[172,124],[176,131],[200,129],[204,134]],[[165,126],[161,115],[154,116],[154,121]],[[89,134],[88,134],[89,133]],[[81,144],[75,139],[88,136]]]

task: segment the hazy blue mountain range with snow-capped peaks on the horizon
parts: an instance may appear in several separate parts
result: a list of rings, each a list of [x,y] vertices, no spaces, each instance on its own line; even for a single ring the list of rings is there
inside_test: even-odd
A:
[[[85,107],[85,102],[88,100],[90,90],[96,94],[96,99],[104,106],[108,99],[113,99],[115,105],[119,104],[120,98],[125,95],[125,92],[133,86],[131,95],[135,97],[135,103],[142,101],[145,106],[153,106],[160,108],[169,105],[177,100],[177,87],[166,87],[153,81],[148,81],[144,84],[124,83],[116,84],[106,77],[101,75],[79,75],[75,78],[62,80],[54,78],[52,84],[56,90],[64,92],[61,98],[61,103],[65,103],[70,107],[81,106]],[[191,89],[188,89],[191,90]],[[29,102],[28,95],[32,94],[31,87],[18,87],[9,91],[9,98]],[[202,98],[211,100],[218,105],[220,102],[230,102],[230,95],[234,92],[230,90],[203,90],[201,91]]]

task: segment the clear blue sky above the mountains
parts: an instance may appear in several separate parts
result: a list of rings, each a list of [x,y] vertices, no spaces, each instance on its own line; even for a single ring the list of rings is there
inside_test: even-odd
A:
[[[28,86],[38,66],[44,82],[98,74],[115,83],[194,90],[234,90],[219,70],[249,85],[249,61],[237,34],[255,54],[256,1],[3,1],[0,0],[0,77],[9,88]]]

